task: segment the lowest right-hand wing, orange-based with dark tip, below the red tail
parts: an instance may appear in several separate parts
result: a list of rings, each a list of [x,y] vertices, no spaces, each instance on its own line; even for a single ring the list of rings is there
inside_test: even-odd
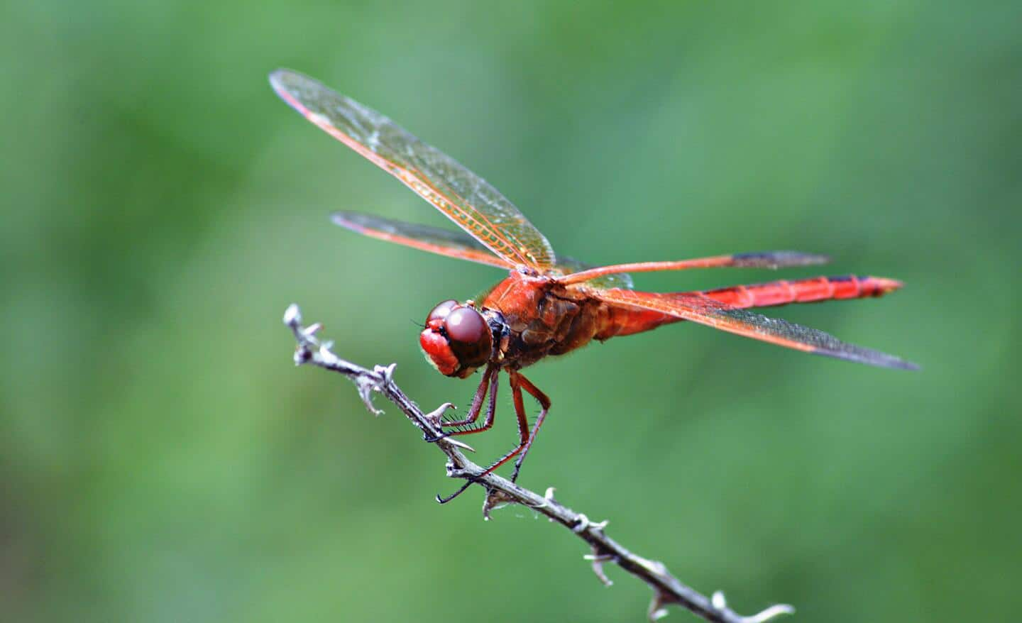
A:
[[[826,354],[828,356],[857,362],[881,368],[901,368],[918,370],[915,364],[905,362],[892,354],[886,354],[871,348],[848,344],[829,333],[789,323],[788,321],[768,318],[748,309],[734,307],[707,296],[694,293],[656,293],[637,292],[635,290],[608,289],[591,290],[589,294],[614,305],[638,307],[660,312],[668,316],[699,323],[762,340],[772,344]]]

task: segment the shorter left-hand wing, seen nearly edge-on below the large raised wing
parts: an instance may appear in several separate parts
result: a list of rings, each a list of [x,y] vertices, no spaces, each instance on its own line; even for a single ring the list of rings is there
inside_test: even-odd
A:
[[[475,238],[463,232],[350,211],[334,212],[330,219],[335,224],[353,232],[379,240],[397,242],[423,251],[487,263],[501,269],[514,268],[507,260],[494,255],[493,251],[482,246]]]

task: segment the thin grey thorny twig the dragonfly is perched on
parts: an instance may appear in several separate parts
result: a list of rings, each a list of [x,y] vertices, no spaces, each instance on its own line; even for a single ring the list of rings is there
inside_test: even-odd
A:
[[[442,404],[431,413],[422,413],[394,384],[394,364],[385,367],[376,366],[373,370],[367,370],[338,357],[331,350],[331,342],[320,342],[316,338],[315,334],[321,328],[319,324],[310,327],[301,326],[301,313],[295,304],[290,305],[284,313],[284,324],[294,333],[294,339],[298,343],[294,352],[295,365],[312,364],[326,370],[339,372],[355,383],[362,401],[371,413],[375,415],[383,413],[374,408],[372,403],[372,392],[377,391],[397,404],[412,424],[422,431],[424,438],[435,439],[439,435],[439,418],[451,406],[450,402]],[[448,457],[447,473],[451,478],[476,479],[485,471],[485,468],[466,459],[459,449],[472,449],[470,446],[450,437],[438,439],[435,441],[435,445]],[[606,521],[591,521],[582,513],[575,513],[558,504],[554,499],[553,487],[548,488],[545,495],[540,495],[497,474],[487,474],[475,482],[486,489],[486,498],[482,505],[482,514],[485,519],[490,519],[492,510],[506,504],[519,504],[533,509],[538,513],[546,515],[550,521],[568,528],[589,543],[592,554],[584,558],[592,563],[593,571],[604,584],[610,585],[611,583],[603,572],[604,563],[614,563],[649,584],[650,588],[653,589],[653,601],[648,613],[651,621],[665,616],[667,612],[664,607],[670,604],[683,606],[703,619],[716,623],[763,623],[780,615],[792,614],[795,611],[791,606],[777,605],[752,616],[739,615],[728,608],[723,592],[716,591],[712,597],[706,597],[670,575],[663,563],[633,554],[607,536],[604,532],[604,528],[607,526]]]

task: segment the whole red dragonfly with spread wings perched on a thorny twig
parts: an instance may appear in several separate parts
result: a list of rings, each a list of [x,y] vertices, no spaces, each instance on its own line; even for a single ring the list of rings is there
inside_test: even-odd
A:
[[[548,356],[586,344],[690,322],[803,352],[877,366],[917,370],[915,364],[784,320],[753,307],[876,297],[901,282],[845,275],[781,280],[705,291],[643,292],[631,274],[723,267],[780,269],[825,263],[824,255],[798,251],[734,253],[694,259],[591,266],[559,257],[550,242],[504,195],[451,156],[427,145],[386,116],[289,69],[270,75],[276,93],[307,119],[394,176],[462,231],[413,225],[353,211],[335,224],[379,240],[489,265],[508,276],[477,300],[444,300],[426,316],[419,344],[443,375],[465,379],[481,371],[466,416],[437,419],[443,434],[431,439],[490,430],[497,412],[498,379],[506,373],[518,442],[455,493],[515,459],[511,480],[536,441],[551,400],[521,373]],[[523,392],[539,402],[529,425]],[[487,399],[489,397],[489,399]],[[481,418],[481,423],[479,422]],[[446,430],[445,430],[446,429]]]

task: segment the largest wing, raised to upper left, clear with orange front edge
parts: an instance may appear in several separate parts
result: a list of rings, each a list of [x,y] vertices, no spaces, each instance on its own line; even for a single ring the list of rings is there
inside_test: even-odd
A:
[[[270,75],[285,102],[362,156],[405,183],[511,265],[553,268],[550,243],[482,178],[375,110],[288,69]]]

